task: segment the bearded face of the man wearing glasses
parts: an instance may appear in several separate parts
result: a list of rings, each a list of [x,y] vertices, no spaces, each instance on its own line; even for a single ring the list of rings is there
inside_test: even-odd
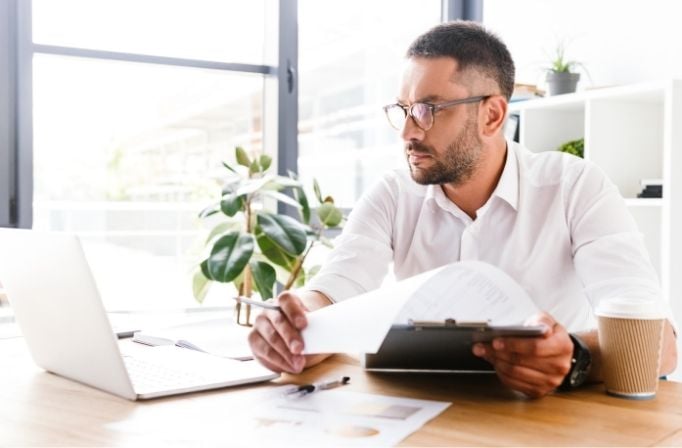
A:
[[[471,92],[452,58],[411,58],[403,74],[399,103],[440,104],[485,92]],[[462,185],[476,172],[483,152],[478,135],[478,105],[461,104],[434,114],[424,131],[405,120],[401,136],[412,179],[427,184]]]

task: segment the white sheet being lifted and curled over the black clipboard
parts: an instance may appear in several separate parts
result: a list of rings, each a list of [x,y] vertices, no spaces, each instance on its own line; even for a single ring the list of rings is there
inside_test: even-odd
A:
[[[489,321],[518,325],[538,312],[523,288],[479,261],[449,264],[308,314],[306,354],[376,353],[393,323]]]

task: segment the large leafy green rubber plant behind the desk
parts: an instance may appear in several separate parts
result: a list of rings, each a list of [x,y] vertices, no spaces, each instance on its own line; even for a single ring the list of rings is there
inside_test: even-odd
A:
[[[310,202],[293,173],[289,177],[269,173],[271,157],[249,157],[241,147],[235,156],[237,167],[223,162],[229,177],[220,201],[199,214],[222,216],[208,235],[206,258],[194,274],[192,289],[199,302],[211,282],[233,283],[240,296],[258,294],[262,300],[274,296],[276,283],[284,290],[302,286],[319,269],[304,266],[310,250],[317,243],[331,247],[324,231],[343,222],[333,198],[323,198],[317,181],[313,190],[319,206],[313,219]],[[264,204],[268,199],[295,207],[299,219],[269,211]],[[235,314],[237,323],[251,324],[250,305],[238,302]]]

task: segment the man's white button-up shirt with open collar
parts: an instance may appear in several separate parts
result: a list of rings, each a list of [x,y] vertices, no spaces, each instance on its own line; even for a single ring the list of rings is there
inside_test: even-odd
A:
[[[642,235],[618,189],[594,164],[507,143],[495,191],[472,220],[440,185],[388,173],[348,218],[306,289],[333,301],[460,260],[505,271],[569,331],[596,327],[607,297],[663,300]],[[669,319],[671,313],[667,304]]]

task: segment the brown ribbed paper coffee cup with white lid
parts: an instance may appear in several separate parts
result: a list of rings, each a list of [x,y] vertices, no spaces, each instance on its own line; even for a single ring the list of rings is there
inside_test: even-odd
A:
[[[599,349],[606,393],[630,399],[656,395],[665,314],[659,302],[614,298],[599,304]]]

